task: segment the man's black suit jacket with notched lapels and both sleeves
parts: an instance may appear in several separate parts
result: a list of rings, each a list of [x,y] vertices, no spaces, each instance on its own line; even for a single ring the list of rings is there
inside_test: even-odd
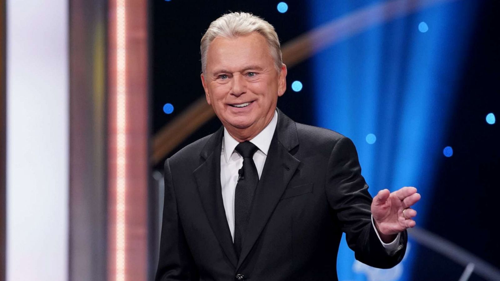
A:
[[[389,268],[370,219],[371,196],[352,141],[295,123],[278,110],[239,259],[220,187],[223,127],[165,161],[165,198],[156,280],[336,280],[342,231],[357,260]]]

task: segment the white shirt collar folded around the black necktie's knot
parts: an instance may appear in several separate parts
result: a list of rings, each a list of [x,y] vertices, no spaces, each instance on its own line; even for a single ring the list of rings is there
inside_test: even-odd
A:
[[[276,129],[276,124],[278,121],[278,112],[274,110],[274,116],[271,121],[265,126],[263,130],[261,130],[255,137],[250,139],[250,142],[255,144],[257,148],[262,151],[267,156],[267,151],[269,151],[269,146],[271,145],[272,135],[274,134],[274,130]],[[238,145],[238,141],[227,132],[227,129],[224,127],[224,139],[222,140],[222,149],[224,150],[224,158],[225,161],[228,162],[231,157],[232,152],[234,152],[234,148]]]

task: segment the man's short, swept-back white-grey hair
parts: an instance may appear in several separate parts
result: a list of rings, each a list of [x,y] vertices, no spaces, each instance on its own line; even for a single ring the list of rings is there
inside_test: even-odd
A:
[[[231,38],[249,34],[253,31],[262,35],[269,46],[276,69],[281,69],[281,48],[274,27],[262,18],[248,12],[231,12],[221,15],[210,23],[201,38],[201,70],[206,72],[206,52],[210,43],[218,36]]]

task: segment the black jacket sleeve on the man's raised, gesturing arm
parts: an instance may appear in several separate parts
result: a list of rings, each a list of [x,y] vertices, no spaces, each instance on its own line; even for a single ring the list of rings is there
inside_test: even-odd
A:
[[[325,188],[357,260],[378,268],[390,268],[401,261],[406,250],[406,230],[401,232],[397,250],[387,253],[371,223],[372,197],[361,175],[354,143],[347,137],[338,139],[332,148]]]

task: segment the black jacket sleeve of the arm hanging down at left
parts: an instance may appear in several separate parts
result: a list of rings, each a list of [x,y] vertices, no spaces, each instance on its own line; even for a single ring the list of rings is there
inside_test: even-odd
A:
[[[194,264],[180,223],[177,200],[168,159],[165,161],[165,197],[161,224],[160,248],[156,281],[198,280]]]

